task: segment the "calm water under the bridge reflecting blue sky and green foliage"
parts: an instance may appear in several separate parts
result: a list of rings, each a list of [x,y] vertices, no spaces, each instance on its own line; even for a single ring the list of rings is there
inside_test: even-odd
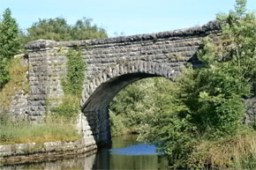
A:
[[[5,166],[0,169],[167,169],[167,161],[155,152],[155,146],[136,142],[136,136],[112,138],[112,148],[102,148],[86,158],[63,159],[54,162]]]

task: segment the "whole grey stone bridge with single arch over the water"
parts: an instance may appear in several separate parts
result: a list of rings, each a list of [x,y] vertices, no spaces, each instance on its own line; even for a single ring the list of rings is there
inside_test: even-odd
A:
[[[66,56],[61,51],[81,48],[86,67],[80,128],[92,144],[110,139],[109,102],[126,85],[142,78],[176,78],[182,66],[197,67],[196,51],[209,33],[220,26],[209,22],[188,29],[88,41],[33,41],[26,45],[30,94],[27,117],[40,121],[46,101],[64,95],[61,79],[66,73]]]

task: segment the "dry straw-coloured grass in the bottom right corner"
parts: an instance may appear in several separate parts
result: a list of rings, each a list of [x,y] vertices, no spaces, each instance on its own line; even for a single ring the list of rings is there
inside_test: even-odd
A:
[[[188,162],[194,169],[256,169],[256,132],[244,130],[233,137],[200,140]]]

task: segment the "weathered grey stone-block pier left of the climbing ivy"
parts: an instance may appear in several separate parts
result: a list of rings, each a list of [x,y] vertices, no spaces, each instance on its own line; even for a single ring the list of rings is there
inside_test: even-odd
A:
[[[47,102],[64,95],[61,78],[65,73],[66,57],[56,55],[57,51],[56,48],[40,48],[29,53],[30,121],[41,121],[46,113]]]

